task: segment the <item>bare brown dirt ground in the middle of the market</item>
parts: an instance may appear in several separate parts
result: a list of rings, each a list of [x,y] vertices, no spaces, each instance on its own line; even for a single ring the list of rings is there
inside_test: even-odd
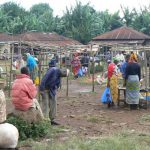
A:
[[[111,135],[118,131],[150,132],[150,122],[142,122],[143,116],[150,120],[150,108],[129,110],[123,104],[107,108],[100,102],[105,87],[80,84],[79,80],[69,81],[69,96],[66,97],[66,81],[58,91],[57,121],[66,128],[68,135],[97,137]],[[11,112],[10,101],[7,111]]]

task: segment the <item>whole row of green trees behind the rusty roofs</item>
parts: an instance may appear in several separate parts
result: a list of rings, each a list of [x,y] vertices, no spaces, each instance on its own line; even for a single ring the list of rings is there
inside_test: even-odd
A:
[[[7,2],[0,5],[0,32],[57,32],[84,44],[98,34],[123,25],[150,35],[150,6],[140,11],[122,6],[121,9],[122,17],[119,11],[96,11],[89,3],[83,5],[77,1],[74,7],[66,8],[63,16],[58,17],[53,15],[53,9],[47,3],[33,5],[27,11],[14,2]]]

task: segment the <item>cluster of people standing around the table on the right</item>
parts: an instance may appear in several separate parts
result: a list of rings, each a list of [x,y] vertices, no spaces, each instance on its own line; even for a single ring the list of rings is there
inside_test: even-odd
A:
[[[122,74],[123,86],[126,87],[125,102],[130,108],[138,108],[140,98],[140,80],[141,67],[138,63],[138,57],[131,52],[125,56],[121,53],[117,54],[113,62],[108,64],[108,82],[107,87],[110,88],[112,102],[108,106],[115,105],[118,101],[118,74]]]

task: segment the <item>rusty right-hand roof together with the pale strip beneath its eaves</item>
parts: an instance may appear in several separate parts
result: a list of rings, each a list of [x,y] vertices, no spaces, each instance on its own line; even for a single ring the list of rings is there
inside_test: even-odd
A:
[[[147,45],[150,44],[150,36],[145,35],[142,32],[138,32],[132,28],[123,26],[94,37],[90,43],[98,45]]]

